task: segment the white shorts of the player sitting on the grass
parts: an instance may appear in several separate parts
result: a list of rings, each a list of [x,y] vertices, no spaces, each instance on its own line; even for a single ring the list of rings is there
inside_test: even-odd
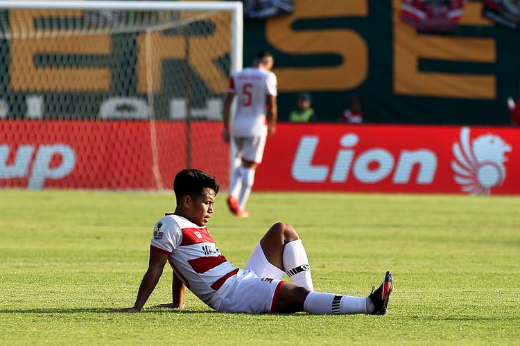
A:
[[[270,264],[260,243],[243,271],[237,273],[232,289],[218,307],[219,312],[266,313],[276,311],[276,300],[284,271]]]

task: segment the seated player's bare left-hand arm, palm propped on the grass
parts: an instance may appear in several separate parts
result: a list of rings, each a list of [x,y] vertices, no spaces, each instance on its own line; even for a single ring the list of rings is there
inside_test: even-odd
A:
[[[146,303],[146,300],[150,297],[155,286],[157,286],[157,282],[159,282],[159,278],[162,275],[162,271],[164,269],[164,264],[168,260],[168,255],[164,253],[159,253],[158,251],[153,251],[150,249],[150,260],[148,261],[148,270],[144,274],[143,280],[141,281],[141,285],[139,286],[139,291],[137,293],[137,298],[135,299],[135,304],[133,307],[116,309],[111,312],[137,312],[141,311]]]

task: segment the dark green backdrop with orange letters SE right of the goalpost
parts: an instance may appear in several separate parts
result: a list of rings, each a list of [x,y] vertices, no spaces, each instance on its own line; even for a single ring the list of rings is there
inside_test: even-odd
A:
[[[402,24],[399,0],[294,4],[292,15],[244,25],[245,66],[259,50],[275,55],[280,120],[298,92],[310,91],[320,121],[337,121],[357,96],[365,122],[509,125],[506,99],[519,96],[520,32],[483,19],[481,1],[469,1],[456,31],[444,35]],[[361,57],[359,42],[366,46]],[[408,69],[410,55],[412,75],[396,66],[406,57],[401,66]],[[336,72],[320,78],[320,69]],[[348,82],[363,69],[363,78]]]

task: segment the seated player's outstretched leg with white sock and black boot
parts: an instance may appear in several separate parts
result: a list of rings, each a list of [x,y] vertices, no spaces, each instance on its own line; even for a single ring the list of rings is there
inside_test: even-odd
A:
[[[282,284],[276,296],[274,312],[306,311],[315,314],[370,313],[384,315],[392,293],[392,274],[387,272],[379,288],[367,297],[313,292],[293,284]]]

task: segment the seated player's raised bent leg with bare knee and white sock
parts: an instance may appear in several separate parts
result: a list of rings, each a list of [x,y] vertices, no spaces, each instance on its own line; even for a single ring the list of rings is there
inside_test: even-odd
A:
[[[272,225],[266,235],[260,240],[255,252],[261,252],[266,260],[282,273],[275,279],[281,279],[283,273],[291,277],[297,286],[314,289],[309,258],[293,226],[278,222]],[[249,263],[249,262],[248,262]],[[265,267],[265,266],[264,266]],[[266,273],[257,273],[259,276],[268,276]]]

